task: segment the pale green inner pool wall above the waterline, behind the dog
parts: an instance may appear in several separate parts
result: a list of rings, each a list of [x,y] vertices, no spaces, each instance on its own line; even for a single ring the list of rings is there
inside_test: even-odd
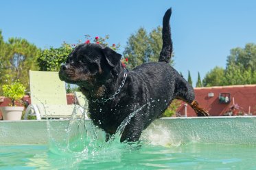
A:
[[[47,144],[47,123],[59,139],[65,137],[69,120],[0,121],[0,144]],[[91,120],[86,120],[91,124]],[[226,143],[256,145],[256,116],[248,117],[170,117],[156,119],[142,136],[153,136],[187,143]],[[156,134],[156,135],[154,135]]]

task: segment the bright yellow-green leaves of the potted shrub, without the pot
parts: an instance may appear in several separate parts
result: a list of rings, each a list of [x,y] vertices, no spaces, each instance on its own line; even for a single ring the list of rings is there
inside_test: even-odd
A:
[[[15,101],[20,100],[25,94],[25,86],[19,81],[15,81],[10,85],[3,85],[3,96],[12,100],[12,106],[14,107]]]

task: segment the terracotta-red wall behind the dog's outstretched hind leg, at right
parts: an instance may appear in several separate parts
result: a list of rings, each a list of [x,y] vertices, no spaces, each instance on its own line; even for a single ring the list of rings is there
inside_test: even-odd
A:
[[[241,111],[248,114],[249,107],[250,113],[256,115],[256,85],[233,85],[223,87],[200,87],[194,88],[196,100],[201,107],[207,109],[212,116],[219,116],[229,111],[230,107],[238,104]],[[213,93],[213,97],[209,97],[208,94]],[[219,94],[229,93],[231,94],[231,102],[228,104],[219,102]],[[181,103],[178,111],[181,111],[181,115],[185,114],[184,102]],[[187,116],[196,116],[191,107],[187,107]]]

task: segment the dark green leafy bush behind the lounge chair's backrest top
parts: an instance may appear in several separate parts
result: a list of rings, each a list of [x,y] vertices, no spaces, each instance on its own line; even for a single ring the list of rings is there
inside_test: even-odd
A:
[[[36,60],[40,71],[59,71],[62,63],[65,63],[72,48],[69,44],[62,44],[60,48],[45,49]]]

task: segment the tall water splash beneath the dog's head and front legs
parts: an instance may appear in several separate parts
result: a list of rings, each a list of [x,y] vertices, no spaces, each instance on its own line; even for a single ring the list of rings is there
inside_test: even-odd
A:
[[[120,143],[121,134],[124,128],[129,124],[130,119],[136,113],[141,111],[147,104],[136,111],[130,113],[126,119],[117,128],[117,132],[106,141],[106,133],[95,126],[91,120],[85,119],[85,114],[80,118],[77,116],[77,110],[73,110],[69,124],[65,129],[65,137],[58,138],[56,129],[51,127],[51,123],[47,122],[47,130],[49,134],[49,150],[54,154],[76,158],[76,160],[93,159],[95,157],[108,158],[122,153],[124,147],[128,150],[134,150],[139,143]]]

